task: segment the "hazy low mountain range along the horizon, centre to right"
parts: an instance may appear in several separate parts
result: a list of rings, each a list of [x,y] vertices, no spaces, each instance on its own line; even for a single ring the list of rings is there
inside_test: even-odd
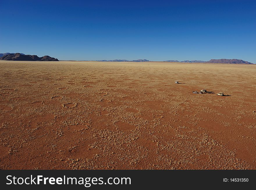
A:
[[[100,60],[100,61],[113,61],[113,62],[152,62],[147,59],[138,59],[133,61],[128,61],[125,59],[115,59],[115,60]],[[210,61],[199,61],[199,60],[193,60],[193,61],[178,61],[178,60],[167,60],[163,62],[176,62],[176,63],[230,63],[230,64],[253,64],[248,61],[243,61],[241,59],[211,59]]]

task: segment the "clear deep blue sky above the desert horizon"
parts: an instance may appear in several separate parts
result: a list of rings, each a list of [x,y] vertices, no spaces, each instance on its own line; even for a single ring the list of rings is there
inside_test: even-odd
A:
[[[1,1],[0,53],[256,63],[256,2]]]

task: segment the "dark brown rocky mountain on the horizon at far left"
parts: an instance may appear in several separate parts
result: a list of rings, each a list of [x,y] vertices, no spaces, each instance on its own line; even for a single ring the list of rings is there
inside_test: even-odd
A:
[[[58,59],[55,59],[54,57],[50,57],[48,55],[43,57],[38,57],[37,55],[24,55],[20,53],[15,54],[7,54],[2,57],[0,57],[0,60],[5,61],[59,61]]]

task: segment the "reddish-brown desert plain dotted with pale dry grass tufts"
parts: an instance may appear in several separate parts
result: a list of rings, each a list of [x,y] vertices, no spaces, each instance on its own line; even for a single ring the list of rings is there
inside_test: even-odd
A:
[[[255,73],[0,61],[0,169],[256,169]],[[192,93],[200,89],[213,93]]]

